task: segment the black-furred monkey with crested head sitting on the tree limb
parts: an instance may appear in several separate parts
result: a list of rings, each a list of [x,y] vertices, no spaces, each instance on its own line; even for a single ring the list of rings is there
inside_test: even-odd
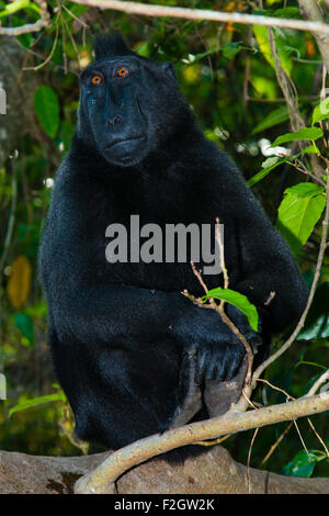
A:
[[[180,293],[203,293],[189,262],[109,263],[109,224],[128,226],[131,214],[161,227],[219,216],[229,287],[259,307],[259,334],[238,310],[227,312],[254,348],[299,316],[307,291],[240,172],[196,125],[171,67],[117,40],[102,40],[95,53],[81,76],[77,132],[56,176],[39,270],[76,431],[118,448],[171,425],[188,395],[186,351],[195,352],[202,385],[232,378],[245,348],[216,313]],[[129,75],[115,77],[118,66]],[[205,281],[215,288],[223,279]]]

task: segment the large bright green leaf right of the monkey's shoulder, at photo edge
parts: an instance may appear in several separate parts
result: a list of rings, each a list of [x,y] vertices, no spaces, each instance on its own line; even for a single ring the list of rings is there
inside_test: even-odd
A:
[[[287,240],[294,255],[304,246],[326,205],[324,189],[300,183],[285,190],[279,207],[276,227]]]

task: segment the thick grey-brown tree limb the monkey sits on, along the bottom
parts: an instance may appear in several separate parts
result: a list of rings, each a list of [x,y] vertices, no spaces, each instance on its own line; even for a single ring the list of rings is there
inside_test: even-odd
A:
[[[0,494],[71,494],[75,481],[90,473],[110,452],[83,457],[36,457],[0,451]],[[254,494],[329,494],[329,479],[283,476],[249,470]],[[124,474],[116,482],[118,494],[243,494],[248,493],[247,468],[222,446],[207,453],[169,464],[156,457]],[[115,501],[117,498],[115,497]],[[114,500],[107,500],[109,511]]]

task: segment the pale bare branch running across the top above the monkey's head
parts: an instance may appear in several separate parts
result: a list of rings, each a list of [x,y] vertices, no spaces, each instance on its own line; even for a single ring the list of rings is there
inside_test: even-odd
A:
[[[280,26],[298,31],[313,32],[315,34],[328,34],[329,25],[318,21],[290,20],[284,18],[258,16],[240,12],[219,12],[205,9],[186,9],[167,5],[152,5],[140,2],[126,2],[121,0],[71,0],[73,3],[101,9],[113,9],[128,14],[143,16],[170,16],[185,20],[207,20],[223,23],[242,23],[247,25]],[[309,0],[305,0],[308,2]]]

